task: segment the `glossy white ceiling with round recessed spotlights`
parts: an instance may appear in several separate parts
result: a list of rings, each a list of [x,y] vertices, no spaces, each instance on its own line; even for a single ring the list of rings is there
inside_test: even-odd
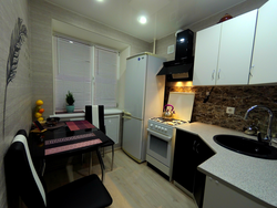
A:
[[[45,0],[137,39],[153,42],[245,0]],[[137,17],[145,14],[146,24]]]

